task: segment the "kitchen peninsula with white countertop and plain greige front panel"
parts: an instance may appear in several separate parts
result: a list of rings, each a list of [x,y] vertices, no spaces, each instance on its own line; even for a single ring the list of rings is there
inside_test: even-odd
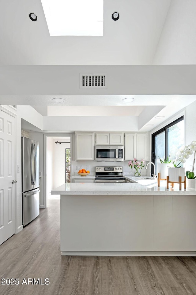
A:
[[[139,183],[66,183],[62,255],[195,255],[196,191]]]

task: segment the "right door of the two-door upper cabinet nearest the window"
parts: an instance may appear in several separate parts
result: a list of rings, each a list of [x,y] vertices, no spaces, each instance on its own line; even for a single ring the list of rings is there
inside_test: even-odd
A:
[[[136,133],[136,159],[148,160],[147,133]]]

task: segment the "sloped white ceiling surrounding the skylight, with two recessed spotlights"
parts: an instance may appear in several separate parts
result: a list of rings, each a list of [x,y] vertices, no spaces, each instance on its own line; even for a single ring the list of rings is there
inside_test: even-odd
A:
[[[0,1],[0,64],[152,64],[170,2],[105,0],[104,36],[50,36],[41,0]],[[114,11],[120,14],[116,22]]]

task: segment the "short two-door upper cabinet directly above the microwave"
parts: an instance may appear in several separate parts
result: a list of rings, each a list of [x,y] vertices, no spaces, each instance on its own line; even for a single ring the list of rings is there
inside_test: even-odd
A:
[[[123,133],[96,133],[96,144],[123,144]]]

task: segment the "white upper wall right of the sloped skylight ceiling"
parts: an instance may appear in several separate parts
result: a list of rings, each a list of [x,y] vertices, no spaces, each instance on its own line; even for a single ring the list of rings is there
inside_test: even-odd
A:
[[[171,1],[153,64],[196,64],[195,11],[195,0]]]

